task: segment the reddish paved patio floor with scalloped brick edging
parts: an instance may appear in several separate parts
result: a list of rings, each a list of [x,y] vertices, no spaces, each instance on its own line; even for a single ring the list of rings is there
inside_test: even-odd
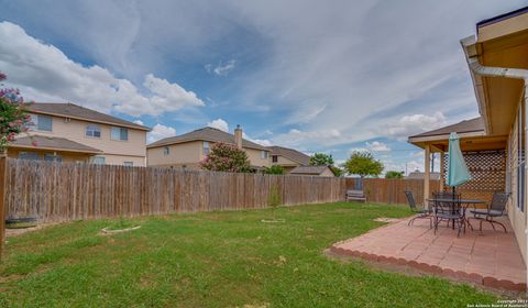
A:
[[[475,231],[466,230],[457,238],[457,230],[439,226],[435,235],[429,220],[417,219],[410,227],[402,220],[370,231],[358,238],[336,243],[336,254],[370,261],[408,265],[436,275],[468,280],[495,288],[526,289],[526,266],[514,232],[472,220]],[[501,228],[501,229],[499,229]]]

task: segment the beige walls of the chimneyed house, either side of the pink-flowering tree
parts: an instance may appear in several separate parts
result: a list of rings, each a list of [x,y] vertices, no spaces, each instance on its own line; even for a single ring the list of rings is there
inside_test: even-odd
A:
[[[209,143],[209,147],[212,146],[212,142]],[[185,167],[188,168],[199,168],[199,162],[206,158],[204,153],[204,141],[189,141],[183,143],[176,143],[167,145],[169,148],[169,154],[164,154],[165,146],[151,147],[147,148],[147,165],[148,166],[172,166],[172,167]],[[268,154],[267,158],[261,158],[261,151],[254,148],[243,147],[250,164],[252,166],[270,166],[271,156]]]

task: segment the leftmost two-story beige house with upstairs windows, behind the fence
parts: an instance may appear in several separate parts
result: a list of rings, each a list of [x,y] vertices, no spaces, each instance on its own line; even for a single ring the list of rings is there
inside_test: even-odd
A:
[[[74,103],[35,102],[28,109],[31,138],[20,134],[9,157],[145,166],[148,128]]]

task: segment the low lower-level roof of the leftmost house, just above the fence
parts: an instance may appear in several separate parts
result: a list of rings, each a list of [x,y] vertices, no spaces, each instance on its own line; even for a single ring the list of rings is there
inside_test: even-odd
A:
[[[37,145],[33,146],[32,142],[36,141]],[[32,135],[18,138],[9,144],[10,147],[23,147],[32,150],[52,150],[52,151],[65,151],[65,152],[79,152],[79,153],[102,153],[101,150],[80,144],[65,138],[57,136],[43,136]]]

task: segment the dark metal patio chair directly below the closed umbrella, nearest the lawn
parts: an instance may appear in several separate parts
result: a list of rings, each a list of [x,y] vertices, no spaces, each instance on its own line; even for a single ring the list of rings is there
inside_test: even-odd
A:
[[[457,237],[460,237],[460,232],[462,231],[462,228],[465,233],[465,209],[462,207],[462,204],[460,202],[460,195],[459,194],[450,194],[450,193],[442,193],[440,197],[439,195],[435,195],[435,198],[438,199],[448,199],[450,201],[435,201],[433,205],[433,217],[435,217],[435,234],[437,234],[438,230],[438,224],[442,220],[448,221],[448,227],[449,222],[453,222],[453,229],[454,229],[454,223],[457,222],[458,226],[458,233]]]

